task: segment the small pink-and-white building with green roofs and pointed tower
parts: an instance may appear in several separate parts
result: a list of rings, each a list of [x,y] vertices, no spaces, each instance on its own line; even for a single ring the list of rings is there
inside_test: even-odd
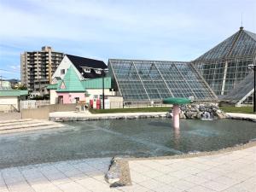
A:
[[[96,108],[96,100],[102,99],[103,78],[98,79],[79,79],[76,68],[70,66],[64,77],[53,79],[53,84],[47,87],[50,90],[50,104],[55,103],[92,103]],[[111,78],[104,78],[105,102],[119,101],[115,91],[112,89]],[[121,98],[122,102],[122,98]]]

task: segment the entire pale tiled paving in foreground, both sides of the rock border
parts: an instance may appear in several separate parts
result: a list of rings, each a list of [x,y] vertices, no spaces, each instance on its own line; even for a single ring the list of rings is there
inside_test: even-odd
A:
[[[70,160],[3,169],[0,191],[256,191],[256,146],[185,159],[131,160],[132,185],[115,189],[104,179],[110,160]]]

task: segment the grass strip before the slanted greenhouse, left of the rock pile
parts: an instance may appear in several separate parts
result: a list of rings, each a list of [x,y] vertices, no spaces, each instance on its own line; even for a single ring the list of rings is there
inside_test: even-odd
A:
[[[155,108],[112,108],[112,109],[92,109],[90,113],[143,113],[143,112],[167,112],[170,107]]]

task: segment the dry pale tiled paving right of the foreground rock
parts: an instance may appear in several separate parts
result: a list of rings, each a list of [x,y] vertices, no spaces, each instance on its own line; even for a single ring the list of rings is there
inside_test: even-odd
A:
[[[256,191],[256,147],[185,159],[132,160],[129,166],[132,186],[122,191]]]

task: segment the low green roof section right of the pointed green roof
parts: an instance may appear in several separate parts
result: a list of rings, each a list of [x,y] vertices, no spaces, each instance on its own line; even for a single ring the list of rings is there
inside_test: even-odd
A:
[[[86,79],[82,81],[84,89],[102,89],[102,78]],[[111,78],[104,78],[104,89],[111,88]]]

